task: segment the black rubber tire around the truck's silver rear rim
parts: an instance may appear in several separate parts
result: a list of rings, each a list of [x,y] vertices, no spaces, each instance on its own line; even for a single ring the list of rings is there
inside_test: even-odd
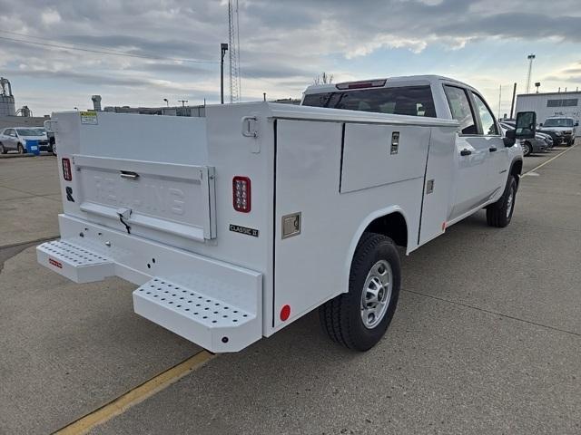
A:
[[[381,263],[389,264],[391,293],[381,294],[387,301],[386,308],[382,316],[378,316],[378,323],[368,327],[362,319],[362,298],[369,273]],[[359,240],[351,263],[349,293],[338,295],[319,308],[322,328],[334,342],[360,352],[369,350],[379,343],[388,329],[398,304],[400,284],[399,254],[393,240],[380,234],[365,233]]]

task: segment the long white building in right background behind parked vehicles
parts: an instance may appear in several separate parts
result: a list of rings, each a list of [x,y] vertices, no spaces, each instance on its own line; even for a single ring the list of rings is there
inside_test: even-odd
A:
[[[577,122],[581,118],[581,92],[543,92],[517,95],[518,111],[535,111],[537,122],[545,122],[549,116],[570,116]],[[581,136],[581,129],[577,129]]]

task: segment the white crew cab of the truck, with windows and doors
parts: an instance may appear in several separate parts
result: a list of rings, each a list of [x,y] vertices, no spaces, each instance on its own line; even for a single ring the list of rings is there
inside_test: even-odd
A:
[[[507,143],[482,95],[468,84],[435,75],[312,85],[302,105],[458,121],[446,226],[502,195],[509,171],[522,167],[519,144]],[[516,165],[516,167],[515,167]],[[514,167],[514,168],[513,168]]]

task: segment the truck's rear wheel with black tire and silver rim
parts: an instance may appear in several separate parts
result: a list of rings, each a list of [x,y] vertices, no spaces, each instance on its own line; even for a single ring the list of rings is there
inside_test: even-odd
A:
[[[398,250],[389,237],[365,233],[351,263],[349,293],[319,308],[320,323],[330,338],[367,351],[381,340],[395,314],[401,269]]]

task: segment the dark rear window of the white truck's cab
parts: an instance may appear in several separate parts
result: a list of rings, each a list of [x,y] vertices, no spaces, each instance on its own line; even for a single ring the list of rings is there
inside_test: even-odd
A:
[[[429,86],[311,93],[305,95],[302,105],[436,118]]]

